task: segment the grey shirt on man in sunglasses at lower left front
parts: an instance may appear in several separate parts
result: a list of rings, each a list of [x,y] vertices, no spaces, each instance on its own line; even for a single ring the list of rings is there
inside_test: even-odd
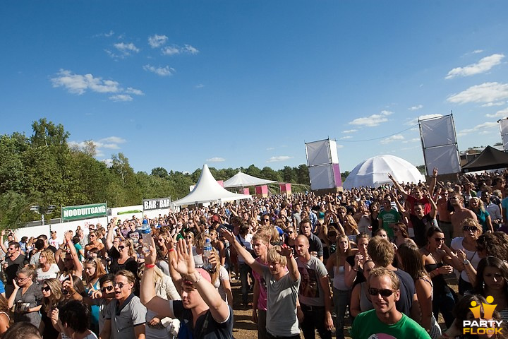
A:
[[[118,300],[109,303],[105,312],[106,319],[111,319],[111,338],[135,338],[135,326],[145,323],[146,307],[134,294],[131,294],[118,308]]]

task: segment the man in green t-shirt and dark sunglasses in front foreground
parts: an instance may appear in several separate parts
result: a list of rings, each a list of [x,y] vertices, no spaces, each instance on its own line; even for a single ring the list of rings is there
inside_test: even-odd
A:
[[[395,308],[400,297],[397,275],[384,267],[370,271],[368,293],[374,309],[356,316],[351,328],[353,339],[411,338],[430,339],[416,321]]]

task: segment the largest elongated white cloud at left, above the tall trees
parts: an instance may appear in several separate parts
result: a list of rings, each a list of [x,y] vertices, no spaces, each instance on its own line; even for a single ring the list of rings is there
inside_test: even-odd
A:
[[[119,83],[112,80],[95,78],[92,74],[73,74],[71,71],[61,69],[56,73],[56,78],[51,79],[53,87],[63,87],[69,93],[82,95],[87,90],[97,93],[118,93]]]

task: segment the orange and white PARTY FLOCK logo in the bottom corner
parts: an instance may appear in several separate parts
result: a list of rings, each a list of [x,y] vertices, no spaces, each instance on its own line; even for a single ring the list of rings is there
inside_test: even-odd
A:
[[[481,305],[478,305],[474,300],[471,302],[471,312],[475,320],[464,320],[463,321],[463,334],[497,334],[502,331],[502,321],[497,321],[492,319],[492,314],[494,314],[494,310],[497,307],[497,304],[492,304],[494,302],[494,297],[489,295],[486,298],[488,304],[482,302]],[[481,308],[483,307],[483,317],[481,315]],[[476,320],[479,319],[479,320]]]

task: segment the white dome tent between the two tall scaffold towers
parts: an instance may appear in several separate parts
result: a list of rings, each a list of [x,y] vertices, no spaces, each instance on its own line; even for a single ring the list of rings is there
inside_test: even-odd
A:
[[[418,169],[400,157],[394,155],[380,155],[356,165],[344,182],[344,189],[353,187],[379,187],[391,184],[388,174],[392,174],[397,182],[425,182],[425,178]]]

